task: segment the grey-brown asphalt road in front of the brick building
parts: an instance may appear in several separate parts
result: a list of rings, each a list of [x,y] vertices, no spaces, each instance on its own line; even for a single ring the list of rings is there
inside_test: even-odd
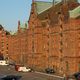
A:
[[[6,75],[21,76],[20,80],[63,80],[61,77],[50,74],[40,72],[17,72],[13,66],[0,66],[0,78]]]

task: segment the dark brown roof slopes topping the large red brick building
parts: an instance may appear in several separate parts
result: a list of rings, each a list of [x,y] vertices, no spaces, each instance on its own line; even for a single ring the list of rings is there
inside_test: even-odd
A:
[[[63,4],[63,2],[61,1],[61,2],[58,2],[55,6],[52,5],[52,7],[48,8],[45,11],[43,11],[42,13],[38,14],[38,18],[40,20],[45,20],[47,18],[47,16],[49,16],[50,22],[53,25],[53,24],[58,23],[57,12],[62,11],[62,13],[64,15],[64,21],[66,22],[69,18],[69,10],[74,10],[79,5],[80,4],[76,1],[69,2],[69,4]],[[78,13],[78,11],[77,11],[77,13]],[[79,14],[77,14],[77,15],[79,15]]]

